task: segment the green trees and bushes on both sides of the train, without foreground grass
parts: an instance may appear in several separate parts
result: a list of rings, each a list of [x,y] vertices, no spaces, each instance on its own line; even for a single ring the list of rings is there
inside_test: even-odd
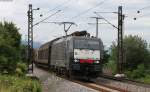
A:
[[[20,75],[26,72],[25,46],[21,44],[19,28],[12,22],[0,22],[0,73]],[[123,72],[132,79],[150,79],[150,46],[139,36],[125,36],[123,39]],[[110,51],[104,51],[104,68],[117,73],[117,41]]]

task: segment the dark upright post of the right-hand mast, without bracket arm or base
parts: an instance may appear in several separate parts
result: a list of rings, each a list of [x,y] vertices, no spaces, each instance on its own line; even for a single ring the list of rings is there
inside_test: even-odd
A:
[[[119,74],[123,72],[124,54],[123,54],[123,21],[122,6],[118,7],[118,57],[117,70]]]

